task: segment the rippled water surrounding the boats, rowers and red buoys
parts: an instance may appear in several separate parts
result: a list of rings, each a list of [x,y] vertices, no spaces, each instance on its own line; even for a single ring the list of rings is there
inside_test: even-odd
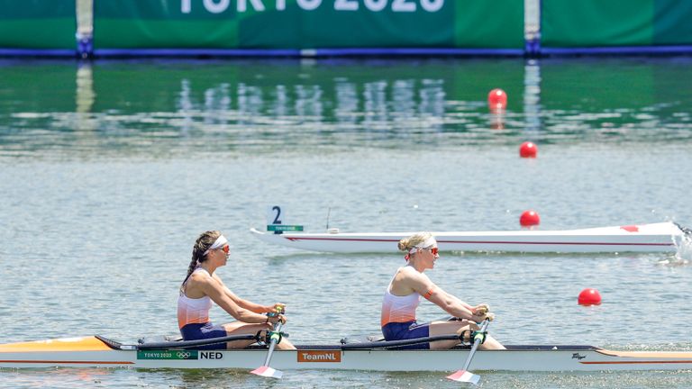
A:
[[[0,63],[0,343],[175,333],[178,285],[205,230],[219,270],[288,303],[295,343],[378,333],[400,255],[335,255],[250,236],[267,208],[323,231],[692,225],[690,59],[63,61]],[[487,92],[509,95],[488,113]],[[536,141],[539,158],[517,157]],[[430,272],[490,303],[507,344],[692,349],[689,251],[445,254]],[[585,287],[604,303],[576,303]],[[442,312],[429,303],[420,318]],[[213,321],[229,321],[220,309]],[[460,362],[461,364],[462,362]],[[690,372],[483,372],[484,387],[689,387]],[[0,371],[0,386],[456,387],[437,373]]]

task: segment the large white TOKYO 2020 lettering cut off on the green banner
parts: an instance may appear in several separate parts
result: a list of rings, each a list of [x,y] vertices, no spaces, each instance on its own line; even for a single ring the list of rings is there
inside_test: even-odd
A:
[[[255,12],[265,11],[264,2],[267,0],[235,0],[236,11],[248,12],[248,3]],[[271,1],[271,0],[269,0]],[[277,11],[286,10],[287,0],[274,0]],[[314,11],[323,6],[328,0],[296,0],[296,5],[304,11]],[[332,0],[334,11],[358,11],[366,9],[371,12],[384,11],[387,8],[396,13],[412,13],[422,9],[424,12],[440,11],[444,0]],[[193,2],[195,5],[193,5]],[[180,11],[190,14],[193,6],[198,6],[199,0],[180,0]],[[202,0],[202,6],[212,14],[221,14],[231,6],[231,0]]]

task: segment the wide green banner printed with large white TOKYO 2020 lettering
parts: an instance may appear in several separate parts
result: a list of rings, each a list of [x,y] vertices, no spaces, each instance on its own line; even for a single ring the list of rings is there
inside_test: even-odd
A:
[[[524,2],[99,0],[95,49],[524,47]]]

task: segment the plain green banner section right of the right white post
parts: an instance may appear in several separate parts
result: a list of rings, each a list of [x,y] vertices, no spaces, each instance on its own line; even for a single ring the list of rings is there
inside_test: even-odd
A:
[[[542,0],[542,47],[692,44],[687,0]]]

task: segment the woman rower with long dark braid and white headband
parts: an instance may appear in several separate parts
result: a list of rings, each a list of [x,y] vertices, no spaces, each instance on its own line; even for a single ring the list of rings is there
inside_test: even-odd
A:
[[[185,340],[220,338],[229,335],[256,334],[272,330],[277,321],[286,323],[283,303],[259,305],[250,303],[233,294],[214,270],[223,267],[228,261],[230,247],[228,240],[220,231],[206,231],[197,238],[192,249],[192,260],[187,268],[187,276],[180,285],[178,297],[178,327]],[[212,302],[231,314],[237,321],[214,325],[209,321]],[[271,314],[262,314],[271,313]],[[235,340],[223,344],[202,346],[200,349],[245,348],[255,340]],[[295,349],[282,339],[277,348]]]

